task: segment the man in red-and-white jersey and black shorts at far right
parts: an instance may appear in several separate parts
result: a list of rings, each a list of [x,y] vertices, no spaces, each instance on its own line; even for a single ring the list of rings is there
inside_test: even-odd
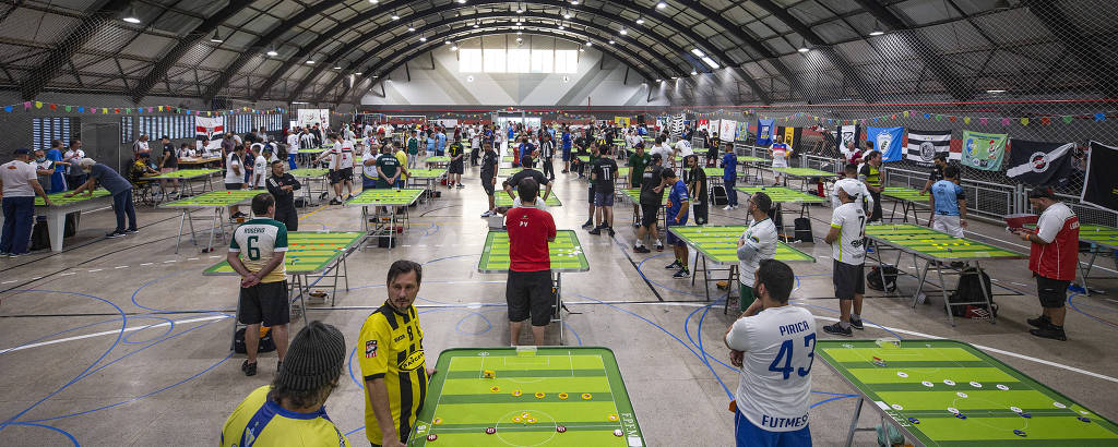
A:
[[[1041,211],[1036,231],[1018,230],[1022,240],[1032,242],[1029,248],[1029,269],[1036,277],[1036,296],[1044,308],[1041,316],[1029,318],[1036,329],[1029,333],[1060,341],[1068,341],[1063,333],[1068,285],[1076,279],[1079,264],[1079,218],[1067,205],[1055,200],[1046,188],[1029,192],[1029,203]]]

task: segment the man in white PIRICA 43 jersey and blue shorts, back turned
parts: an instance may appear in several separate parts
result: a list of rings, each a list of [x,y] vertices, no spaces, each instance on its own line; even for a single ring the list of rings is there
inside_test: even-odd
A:
[[[741,369],[731,403],[735,439],[738,446],[811,446],[815,318],[788,305],[795,277],[787,264],[762,260],[755,275],[758,299],[723,339],[730,363]]]

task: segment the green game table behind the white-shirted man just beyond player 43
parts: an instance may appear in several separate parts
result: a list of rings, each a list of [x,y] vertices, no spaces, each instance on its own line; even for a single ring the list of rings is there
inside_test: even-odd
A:
[[[726,302],[723,303],[726,308],[723,313],[729,311],[730,297],[736,296],[736,288],[732,286],[737,284],[738,275],[740,275],[740,272],[738,272],[738,239],[741,238],[741,234],[747,228],[749,227],[743,225],[667,228],[669,231],[682,239],[684,244],[702,255],[695,256],[694,267],[691,270],[695,274],[699,272],[703,273],[703,288],[707,291],[707,301],[710,301],[710,283],[721,280],[719,278],[711,278],[711,273],[727,272],[726,282],[730,287],[727,287]],[[699,267],[700,259],[702,259],[701,268]],[[811,255],[780,241],[777,241],[776,259],[785,263],[815,261],[815,258]],[[711,268],[707,265],[708,261],[716,266],[727,267]],[[695,276],[698,275],[691,275],[692,287],[695,284]]]

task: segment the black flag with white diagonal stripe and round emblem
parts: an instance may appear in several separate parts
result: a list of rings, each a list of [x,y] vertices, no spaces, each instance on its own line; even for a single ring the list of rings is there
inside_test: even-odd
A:
[[[1076,143],[1012,140],[1005,174],[1036,187],[1062,187],[1071,177],[1071,154]]]

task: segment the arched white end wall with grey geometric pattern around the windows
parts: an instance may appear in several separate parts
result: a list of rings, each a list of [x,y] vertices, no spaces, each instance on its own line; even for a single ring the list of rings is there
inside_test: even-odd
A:
[[[494,48],[490,39],[500,39],[503,47],[503,36],[486,37],[485,48]],[[515,38],[515,36],[511,36]],[[528,41],[528,36],[525,44]],[[511,40],[511,39],[510,39]],[[531,48],[575,49],[570,42],[552,44],[550,38],[534,37]],[[459,42],[463,48],[477,48],[479,39]],[[524,45],[521,48],[529,48]],[[648,86],[645,79],[634,70],[625,80],[626,66],[605,56],[594,48],[579,54],[578,73],[574,74],[499,74],[499,73],[458,73],[457,53],[448,45],[432,51],[432,57],[419,56],[408,63],[411,80],[401,67],[388,79],[373,86],[361,99],[362,105],[536,105],[536,106],[586,106],[589,101],[593,106],[648,106],[666,105],[662,95],[653,95],[648,102]],[[600,65],[605,57],[605,64]],[[467,80],[473,76],[473,80]],[[567,80],[563,80],[563,78]],[[383,95],[381,95],[383,85]]]

